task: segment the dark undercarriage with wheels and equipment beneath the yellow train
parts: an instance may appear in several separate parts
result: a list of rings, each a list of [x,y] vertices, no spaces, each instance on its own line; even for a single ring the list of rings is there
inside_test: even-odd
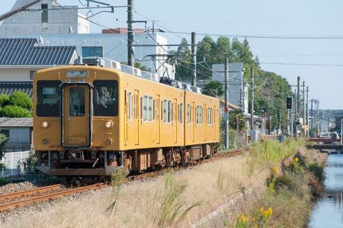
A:
[[[139,150],[50,150],[36,151],[38,166],[54,176],[108,176],[119,168],[144,172],[185,165],[207,159],[217,152],[216,144],[185,147],[145,148]]]

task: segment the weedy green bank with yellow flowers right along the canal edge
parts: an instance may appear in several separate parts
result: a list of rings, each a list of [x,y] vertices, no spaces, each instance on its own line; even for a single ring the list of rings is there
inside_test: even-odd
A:
[[[304,140],[298,144],[293,140],[285,144],[265,141],[264,144],[255,146],[251,152],[252,157],[249,158],[250,170],[261,170],[274,163],[274,168],[270,168],[270,176],[266,179],[268,189],[258,201],[237,212],[236,218],[232,215],[229,221],[224,221],[227,227],[307,227],[316,196],[324,188],[324,161],[318,161],[318,152],[308,152],[305,144]],[[279,146],[292,150],[283,152],[283,148]],[[270,155],[270,148],[274,155]],[[261,157],[252,162],[254,153],[258,152]],[[322,155],[326,156],[327,154]],[[270,209],[272,213],[261,214],[263,208]]]

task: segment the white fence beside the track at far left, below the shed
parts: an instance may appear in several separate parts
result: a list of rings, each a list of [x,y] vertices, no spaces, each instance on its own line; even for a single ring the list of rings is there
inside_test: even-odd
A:
[[[5,156],[1,160],[1,163],[5,164],[6,170],[0,172],[0,176],[12,176],[21,174],[21,170],[19,170],[16,166],[18,165],[18,161],[20,159],[27,159],[29,157],[29,151],[21,151],[21,152],[6,152]]]

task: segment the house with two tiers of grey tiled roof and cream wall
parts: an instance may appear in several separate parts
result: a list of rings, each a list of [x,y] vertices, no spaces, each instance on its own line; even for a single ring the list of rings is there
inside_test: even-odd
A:
[[[36,38],[0,38],[0,94],[22,91],[32,98],[34,72],[72,64],[72,46],[38,46]]]

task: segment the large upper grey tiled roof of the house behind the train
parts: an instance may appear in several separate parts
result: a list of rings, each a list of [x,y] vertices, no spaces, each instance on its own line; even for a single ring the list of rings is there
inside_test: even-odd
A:
[[[74,46],[38,46],[36,38],[0,38],[0,65],[68,65]]]

